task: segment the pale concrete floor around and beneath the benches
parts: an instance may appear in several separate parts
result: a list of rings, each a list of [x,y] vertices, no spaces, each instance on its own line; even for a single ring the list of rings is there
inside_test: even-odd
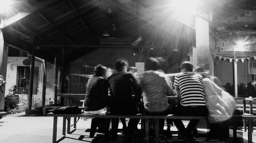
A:
[[[57,138],[60,138],[62,135],[62,118],[58,118],[58,130]],[[91,126],[91,120],[83,121],[80,119],[77,122],[77,130],[72,134],[67,134],[66,138],[61,140],[61,143],[64,142],[104,142],[100,140],[101,134],[96,134],[95,138],[89,137],[89,129]],[[0,120],[0,142],[17,142],[17,143],[49,143],[52,142],[52,127],[53,127],[53,117],[45,117],[38,115],[27,116],[25,113],[17,113],[15,115],[8,115]],[[119,125],[121,128],[122,125]],[[138,126],[140,127],[140,126]],[[172,127],[173,128],[173,127]],[[171,128],[171,129],[172,129]],[[173,131],[176,128],[173,128]],[[204,133],[206,129],[198,128],[199,133]],[[254,132],[256,130],[254,129]],[[253,142],[256,142],[256,133],[253,133]],[[99,139],[98,139],[99,138]],[[123,135],[119,135],[117,141],[112,142],[122,142]],[[174,137],[175,138],[175,137]],[[141,142],[137,140],[137,142]],[[205,137],[199,137],[197,139],[200,142],[205,142]],[[178,140],[166,140],[163,142],[177,142]],[[109,141],[111,142],[111,141]],[[232,142],[232,130],[230,129],[230,140],[226,142]],[[247,132],[238,130],[238,140],[237,142],[247,142]]]

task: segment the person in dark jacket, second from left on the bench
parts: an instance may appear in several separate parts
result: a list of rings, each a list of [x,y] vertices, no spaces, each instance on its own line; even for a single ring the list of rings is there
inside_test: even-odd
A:
[[[127,71],[128,63],[124,60],[115,62],[116,72],[108,80],[110,83],[111,106],[110,112],[113,115],[136,115],[139,112],[136,102],[139,102],[141,88],[137,78]],[[139,98],[133,98],[133,94]],[[138,101],[134,101],[138,99]],[[137,127],[140,119],[130,119],[125,142],[131,142],[134,129]],[[117,136],[119,119],[112,119],[112,135]]]

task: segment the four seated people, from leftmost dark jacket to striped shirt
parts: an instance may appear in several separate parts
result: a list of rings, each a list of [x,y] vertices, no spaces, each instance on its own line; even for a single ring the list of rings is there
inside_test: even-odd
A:
[[[84,110],[88,113],[110,111],[112,115],[148,115],[206,116],[206,100],[202,75],[193,72],[193,64],[183,62],[181,72],[175,78],[164,73],[162,58],[148,58],[145,72],[138,79],[134,73],[127,72],[129,64],[125,60],[115,62],[115,72],[106,77],[107,68],[97,65],[94,75],[87,83]],[[169,104],[167,96],[178,96],[177,105]],[[141,99],[142,97],[142,99]],[[115,139],[118,133],[119,119],[111,119],[112,129],[109,133],[110,119],[96,119],[98,130],[106,138]],[[130,119],[125,131],[124,142],[132,142],[134,131],[140,119]],[[168,122],[168,121],[167,121]],[[181,120],[173,120],[180,137],[194,142],[191,132],[199,120],[190,120],[185,128]],[[168,124],[168,123],[167,123]],[[163,132],[164,120],[160,120],[160,133]]]

